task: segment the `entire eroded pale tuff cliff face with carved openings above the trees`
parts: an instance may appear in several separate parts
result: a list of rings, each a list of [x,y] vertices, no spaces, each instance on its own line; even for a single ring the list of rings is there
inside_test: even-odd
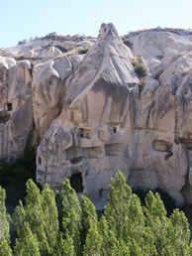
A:
[[[105,201],[122,170],[131,187],[192,202],[191,33],[120,38],[102,24],[97,40],[47,37],[0,55],[0,158],[36,144],[37,181],[53,189],[69,177]]]

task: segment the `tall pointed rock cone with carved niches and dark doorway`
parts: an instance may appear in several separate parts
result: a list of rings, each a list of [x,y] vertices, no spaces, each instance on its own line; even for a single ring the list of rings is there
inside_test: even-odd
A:
[[[66,80],[61,113],[37,155],[38,182],[59,188],[64,178],[81,173],[83,192],[93,200],[102,198],[119,169],[128,177],[130,98],[139,83],[130,51],[113,25],[106,28]]]

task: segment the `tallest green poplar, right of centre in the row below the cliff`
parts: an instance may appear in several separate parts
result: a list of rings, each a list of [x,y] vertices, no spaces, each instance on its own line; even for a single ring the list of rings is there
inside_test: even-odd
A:
[[[118,240],[117,248],[126,244],[131,255],[148,255],[156,253],[150,230],[146,230],[144,210],[138,195],[133,194],[124,175],[119,172],[112,178],[109,199],[105,206],[109,229]],[[128,250],[129,249],[129,250]],[[114,249],[115,250],[115,249]]]

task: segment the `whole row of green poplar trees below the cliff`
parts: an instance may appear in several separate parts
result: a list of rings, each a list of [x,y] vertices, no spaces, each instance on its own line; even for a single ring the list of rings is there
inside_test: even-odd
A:
[[[29,180],[25,204],[16,207],[18,237],[9,245],[5,192],[0,188],[0,255],[35,256],[167,256],[192,255],[187,218],[179,209],[167,216],[159,193],[147,192],[144,206],[119,172],[112,183],[104,213],[85,195],[80,201],[66,179],[55,194],[41,192]],[[3,227],[3,228],[2,228]]]

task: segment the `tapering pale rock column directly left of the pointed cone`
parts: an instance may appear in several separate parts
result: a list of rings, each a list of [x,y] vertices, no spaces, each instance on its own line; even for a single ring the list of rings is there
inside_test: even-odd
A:
[[[34,67],[33,111],[40,140],[60,111],[64,79],[74,72],[82,59],[82,56],[62,57]]]

